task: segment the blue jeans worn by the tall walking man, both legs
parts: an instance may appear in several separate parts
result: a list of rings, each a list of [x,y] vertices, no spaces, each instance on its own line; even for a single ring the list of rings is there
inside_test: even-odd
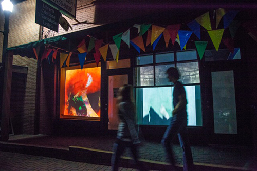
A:
[[[179,115],[179,114],[178,114]],[[183,170],[193,170],[193,157],[191,148],[189,145],[188,134],[187,134],[187,117],[172,117],[170,125],[167,127],[166,132],[161,140],[162,145],[166,149],[166,154],[173,166],[175,166],[175,160],[172,152],[171,141],[178,135],[180,146],[183,149]]]

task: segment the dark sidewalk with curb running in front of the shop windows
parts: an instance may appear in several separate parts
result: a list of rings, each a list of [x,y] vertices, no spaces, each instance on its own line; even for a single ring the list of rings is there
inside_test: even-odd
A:
[[[47,135],[15,135],[7,142],[0,142],[0,151],[24,153],[109,165],[112,146],[115,141],[110,136],[65,137]],[[250,148],[191,146],[197,170],[257,170],[257,158]],[[182,149],[173,146],[176,166],[182,170]],[[123,167],[131,166],[129,152],[123,154]],[[139,148],[141,162],[152,170],[165,170],[167,158],[160,143],[145,141]]]

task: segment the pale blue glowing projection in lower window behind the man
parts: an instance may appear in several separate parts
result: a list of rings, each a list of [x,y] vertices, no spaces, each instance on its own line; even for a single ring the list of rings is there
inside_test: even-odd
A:
[[[174,87],[137,88],[138,122],[144,125],[168,125],[172,117]],[[201,126],[200,86],[185,86],[188,125]]]

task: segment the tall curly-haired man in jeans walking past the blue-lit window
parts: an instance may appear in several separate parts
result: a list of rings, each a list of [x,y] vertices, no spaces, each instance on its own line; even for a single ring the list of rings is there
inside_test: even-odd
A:
[[[171,141],[178,135],[180,146],[183,149],[183,170],[193,170],[193,157],[191,148],[189,145],[187,134],[187,99],[186,91],[182,83],[178,81],[180,74],[177,68],[170,67],[167,72],[170,82],[174,83],[173,90],[173,106],[172,119],[170,125],[167,127],[166,132],[161,140],[162,145],[166,149],[167,156],[172,164],[172,168],[175,168],[174,156],[172,153]]]

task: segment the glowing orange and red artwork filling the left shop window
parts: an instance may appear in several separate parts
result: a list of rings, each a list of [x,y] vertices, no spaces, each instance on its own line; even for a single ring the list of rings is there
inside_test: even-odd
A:
[[[100,117],[101,68],[67,70],[64,115]]]

